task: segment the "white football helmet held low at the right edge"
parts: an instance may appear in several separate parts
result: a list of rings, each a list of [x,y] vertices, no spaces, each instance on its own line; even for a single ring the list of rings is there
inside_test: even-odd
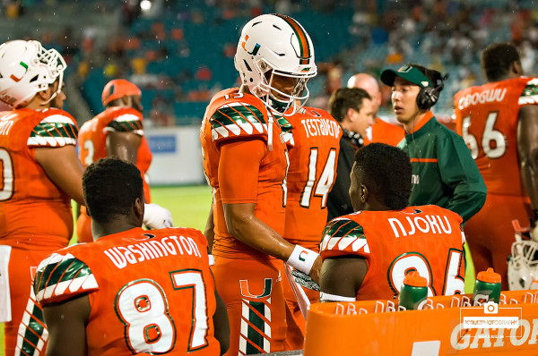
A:
[[[508,259],[508,289],[538,289],[538,242],[523,240],[517,233]]]

